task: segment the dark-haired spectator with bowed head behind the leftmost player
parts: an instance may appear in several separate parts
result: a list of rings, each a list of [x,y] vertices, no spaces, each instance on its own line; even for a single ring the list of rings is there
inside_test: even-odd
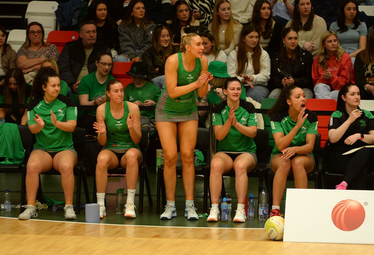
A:
[[[26,104],[30,100],[31,86],[26,83],[22,70],[11,68],[0,87],[0,104]],[[27,109],[0,108],[5,122],[27,125]]]

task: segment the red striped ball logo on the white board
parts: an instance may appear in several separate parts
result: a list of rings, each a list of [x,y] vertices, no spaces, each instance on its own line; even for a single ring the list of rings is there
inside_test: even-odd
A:
[[[364,207],[353,199],[342,200],[334,206],[331,219],[335,227],[343,231],[359,228],[365,220]]]

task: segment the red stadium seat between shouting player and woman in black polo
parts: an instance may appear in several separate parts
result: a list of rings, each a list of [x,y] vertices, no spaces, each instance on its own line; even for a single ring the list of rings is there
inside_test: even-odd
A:
[[[311,111],[336,111],[334,99],[307,99],[305,107]],[[321,148],[325,147],[328,139],[328,124],[330,115],[318,115],[318,133],[321,134]]]

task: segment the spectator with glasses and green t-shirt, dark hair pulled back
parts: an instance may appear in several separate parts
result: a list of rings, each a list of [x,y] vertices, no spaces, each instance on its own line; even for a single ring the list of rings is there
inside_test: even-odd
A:
[[[101,105],[104,102],[107,83],[114,79],[110,74],[112,61],[112,56],[109,53],[97,53],[95,61],[97,70],[83,77],[78,86],[80,105]],[[96,120],[95,114],[95,111],[79,113],[77,126],[85,128],[86,135],[96,135],[92,128],[92,123]]]

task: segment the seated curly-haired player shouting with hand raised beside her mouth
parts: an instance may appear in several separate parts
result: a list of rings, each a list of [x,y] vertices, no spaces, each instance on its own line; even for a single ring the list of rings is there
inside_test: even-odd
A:
[[[287,176],[293,173],[295,188],[308,188],[307,174],[315,168],[313,147],[317,115],[305,108],[305,93],[297,86],[285,86],[267,114],[275,141],[270,156],[273,181],[273,207],[269,218],[280,215]],[[318,166],[317,166],[318,167]]]

